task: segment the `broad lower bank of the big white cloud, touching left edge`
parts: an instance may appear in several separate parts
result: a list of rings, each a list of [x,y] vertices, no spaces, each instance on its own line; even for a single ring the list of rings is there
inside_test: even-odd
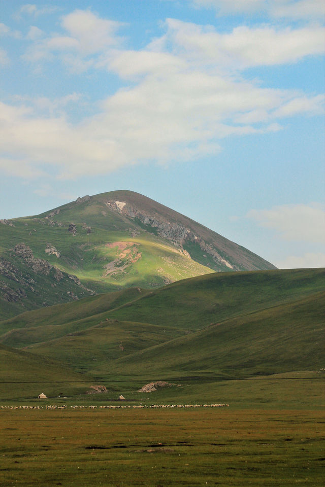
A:
[[[80,102],[76,93],[25,100],[32,108],[3,105],[2,146],[13,160],[10,171],[53,165],[66,178],[143,161],[197,159],[218,152],[220,139],[230,134],[278,130],[276,123],[254,127],[232,120],[245,111],[268,113],[283,99],[280,90],[186,69],[157,75],[153,66],[153,74],[108,97],[100,113],[78,124],[68,123],[64,112]]]

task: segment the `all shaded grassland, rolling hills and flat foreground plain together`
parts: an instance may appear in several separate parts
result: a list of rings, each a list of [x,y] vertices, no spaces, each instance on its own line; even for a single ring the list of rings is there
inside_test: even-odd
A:
[[[322,272],[229,276],[3,322],[2,340],[23,349],[0,346],[0,485],[319,487]],[[169,387],[138,392],[163,378]],[[90,385],[108,392],[86,394]],[[202,403],[229,407],[100,408]]]

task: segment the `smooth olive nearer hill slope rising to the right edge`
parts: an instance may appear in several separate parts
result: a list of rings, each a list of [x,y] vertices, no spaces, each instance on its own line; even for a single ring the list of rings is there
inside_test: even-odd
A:
[[[153,377],[247,377],[323,365],[325,293],[213,324],[119,358],[111,372]],[[41,349],[42,350],[42,347]]]

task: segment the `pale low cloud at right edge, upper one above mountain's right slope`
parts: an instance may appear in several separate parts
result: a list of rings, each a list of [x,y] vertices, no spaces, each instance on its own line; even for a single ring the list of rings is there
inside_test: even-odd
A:
[[[247,217],[274,229],[284,240],[325,242],[325,210],[319,205],[287,204],[251,210]]]

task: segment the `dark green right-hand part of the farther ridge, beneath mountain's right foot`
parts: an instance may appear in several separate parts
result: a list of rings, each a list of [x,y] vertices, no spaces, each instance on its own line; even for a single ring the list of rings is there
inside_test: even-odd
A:
[[[214,273],[173,283],[113,310],[120,320],[197,330],[322,291],[323,269]]]

